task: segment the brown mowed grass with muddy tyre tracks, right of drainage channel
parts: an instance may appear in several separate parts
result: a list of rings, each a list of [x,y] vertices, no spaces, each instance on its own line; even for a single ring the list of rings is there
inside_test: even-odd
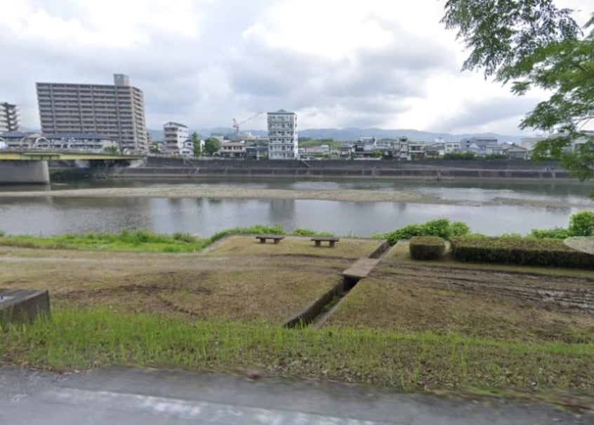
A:
[[[591,271],[383,257],[326,322],[399,332],[456,333],[522,342],[594,342]]]

